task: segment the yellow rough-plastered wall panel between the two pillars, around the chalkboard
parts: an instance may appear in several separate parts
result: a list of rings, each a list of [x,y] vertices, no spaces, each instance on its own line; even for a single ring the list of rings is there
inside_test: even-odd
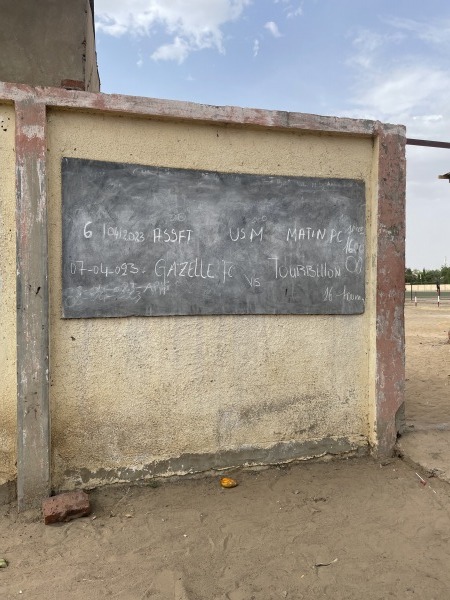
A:
[[[49,149],[55,487],[75,485],[83,468],[139,471],[170,457],[329,437],[367,443],[375,323],[370,247],[363,315],[63,320],[60,170],[61,157],[69,156],[363,179],[370,246],[371,139],[52,111]]]

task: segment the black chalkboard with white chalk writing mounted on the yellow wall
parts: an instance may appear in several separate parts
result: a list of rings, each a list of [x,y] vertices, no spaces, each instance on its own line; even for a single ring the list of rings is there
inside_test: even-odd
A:
[[[63,158],[63,317],[364,312],[353,179]]]

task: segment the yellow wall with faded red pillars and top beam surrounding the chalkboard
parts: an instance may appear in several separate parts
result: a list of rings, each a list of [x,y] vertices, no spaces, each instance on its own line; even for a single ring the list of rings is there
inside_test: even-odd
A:
[[[8,84],[0,84],[2,99],[17,114],[20,508],[50,486],[392,452],[404,382],[402,127]],[[8,197],[11,131],[1,191]],[[363,180],[364,314],[62,319],[63,156]],[[2,219],[13,230],[5,206]],[[2,269],[8,353],[15,334],[9,259]],[[15,365],[7,353],[0,366],[10,381],[2,400],[10,425],[0,436],[10,478]]]

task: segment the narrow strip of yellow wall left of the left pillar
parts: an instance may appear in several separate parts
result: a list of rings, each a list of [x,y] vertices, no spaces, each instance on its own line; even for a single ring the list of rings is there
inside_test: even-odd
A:
[[[14,109],[0,104],[0,486],[16,476]]]

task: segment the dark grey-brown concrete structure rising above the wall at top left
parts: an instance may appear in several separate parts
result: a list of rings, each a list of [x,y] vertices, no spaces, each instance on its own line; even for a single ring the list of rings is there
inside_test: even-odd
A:
[[[0,0],[0,81],[99,91],[89,0]]]

